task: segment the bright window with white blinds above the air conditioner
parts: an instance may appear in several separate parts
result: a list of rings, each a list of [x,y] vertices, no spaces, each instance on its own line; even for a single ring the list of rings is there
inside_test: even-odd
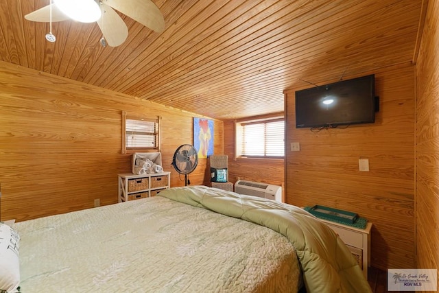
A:
[[[283,118],[237,122],[237,157],[283,158],[284,129]]]

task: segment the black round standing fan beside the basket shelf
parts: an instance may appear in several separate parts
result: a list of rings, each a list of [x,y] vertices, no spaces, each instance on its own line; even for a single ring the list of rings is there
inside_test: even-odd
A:
[[[180,145],[174,153],[172,165],[179,174],[185,174],[185,186],[187,186],[189,183],[187,175],[193,172],[198,165],[197,150],[193,145]]]

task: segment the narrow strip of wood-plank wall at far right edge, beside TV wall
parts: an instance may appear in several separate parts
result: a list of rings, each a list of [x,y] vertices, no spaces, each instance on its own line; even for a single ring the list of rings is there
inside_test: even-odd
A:
[[[418,268],[436,269],[439,268],[438,19],[439,1],[429,1],[416,64],[416,261]]]

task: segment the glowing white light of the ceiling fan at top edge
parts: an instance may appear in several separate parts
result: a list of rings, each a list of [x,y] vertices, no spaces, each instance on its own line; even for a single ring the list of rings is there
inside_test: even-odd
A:
[[[58,9],[74,21],[93,23],[101,17],[99,4],[94,0],[54,0]]]

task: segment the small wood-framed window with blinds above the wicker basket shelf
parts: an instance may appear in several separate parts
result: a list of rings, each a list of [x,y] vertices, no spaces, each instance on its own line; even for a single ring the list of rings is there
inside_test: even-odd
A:
[[[123,153],[138,150],[159,151],[160,117],[139,117],[126,112],[123,112],[122,115]]]

